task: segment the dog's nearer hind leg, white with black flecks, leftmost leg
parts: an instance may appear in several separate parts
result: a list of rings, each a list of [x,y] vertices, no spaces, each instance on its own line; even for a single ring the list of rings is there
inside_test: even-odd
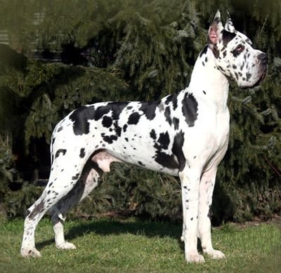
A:
[[[40,257],[39,251],[35,248],[34,233],[39,220],[44,214],[76,185],[83,167],[85,159],[74,161],[76,154],[68,152],[68,157],[58,156],[52,164],[48,185],[41,194],[41,197],[27,210],[25,218],[25,229],[22,238],[21,254],[24,257]],[[75,152],[75,151],[74,151]]]

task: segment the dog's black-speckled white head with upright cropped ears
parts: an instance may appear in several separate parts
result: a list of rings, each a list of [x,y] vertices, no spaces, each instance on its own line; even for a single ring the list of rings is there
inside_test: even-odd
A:
[[[235,79],[240,88],[257,86],[266,76],[266,53],[254,49],[250,39],[235,30],[230,16],[223,27],[221,13],[216,12],[209,27],[208,40],[216,67],[226,76]]]

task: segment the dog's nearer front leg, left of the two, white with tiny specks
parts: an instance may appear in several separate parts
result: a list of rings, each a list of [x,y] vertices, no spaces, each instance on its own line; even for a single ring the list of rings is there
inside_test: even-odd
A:
[[[197,251],[198,198],[201,170],[185,166],[180,173],[183,202],[183,241],[187,262],[204,262]]]

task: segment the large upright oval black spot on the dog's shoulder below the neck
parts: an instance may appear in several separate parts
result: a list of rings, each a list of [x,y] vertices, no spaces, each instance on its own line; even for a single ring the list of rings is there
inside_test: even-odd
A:
[[[188,124],[188,127],[192,127],[195,125],[195,121],[197,120],[198,102],[192,94],[187,93],[185,94],[182,103],[182,111],[183,116],[185,116],[185,121]]]

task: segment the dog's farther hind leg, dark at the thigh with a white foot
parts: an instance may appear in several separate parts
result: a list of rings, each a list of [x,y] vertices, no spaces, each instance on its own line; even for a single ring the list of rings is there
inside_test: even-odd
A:
[[[82,201],[95,187],[98,186],[100,176],[103,171],[92,161],[88,161],[84,167],[81,178],[73,189],[60,199],[55,206],[50,209],[53,231],[55,232],[55,246],[60,249],[74,249],[74,244],[65,241],[63,223],[65,222],[67,211]]]

